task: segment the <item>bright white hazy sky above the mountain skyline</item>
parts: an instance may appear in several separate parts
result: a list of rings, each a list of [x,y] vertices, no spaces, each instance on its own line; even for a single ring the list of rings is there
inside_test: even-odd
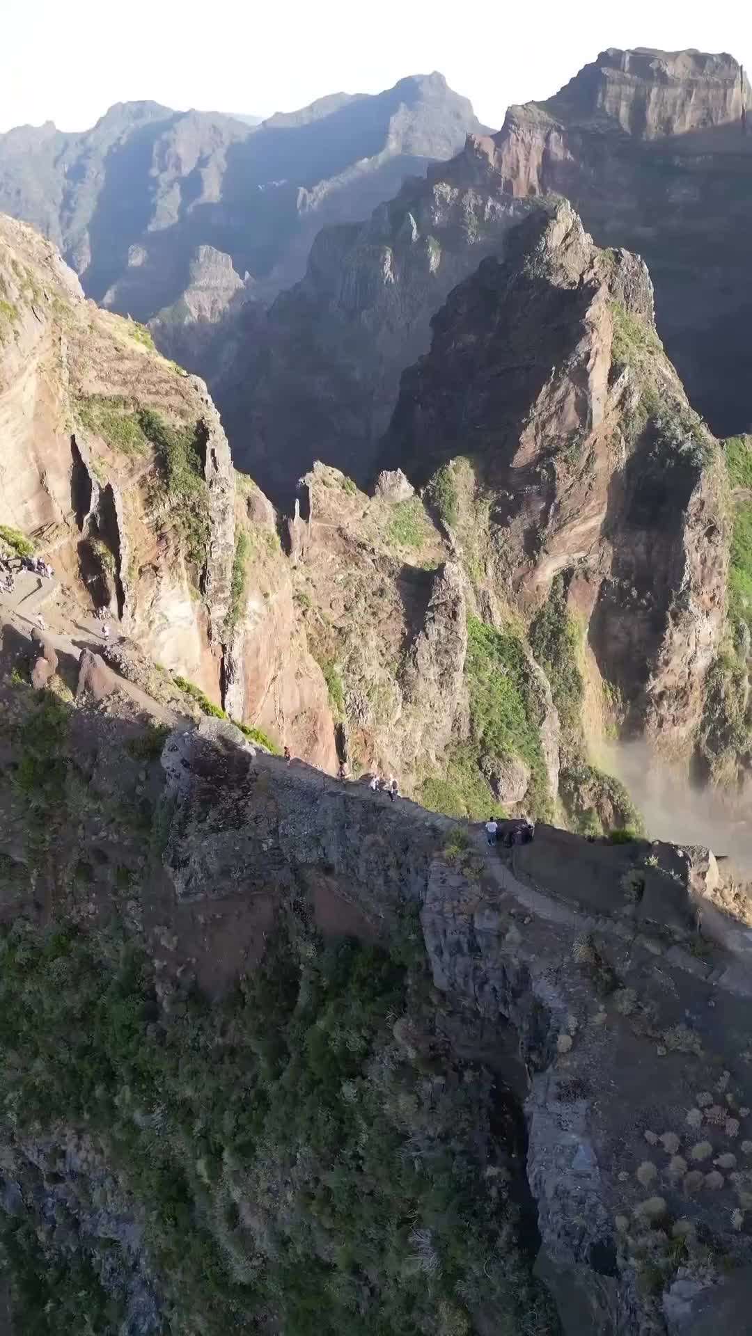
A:
[[[84,130],[140,98],[268,116],[431,69],[498,128],[508,103],[549,96],[605,47],[698,47],[752,65],[748,7],[707,0],[5,0],[0,33],[0,131]]]

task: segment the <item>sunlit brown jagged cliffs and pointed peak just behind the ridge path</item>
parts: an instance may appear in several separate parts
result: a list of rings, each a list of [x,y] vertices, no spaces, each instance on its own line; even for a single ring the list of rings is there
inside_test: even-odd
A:
[[[44,461],[62,470],[41,537],[75,589],[233,717],[456,815],[551,815],[561,774],[567,819],[610,827],[633,814],[587,762],[589,720],[595,745],[607,715],[681,759],[694,747],[724,624],[717,448],[657,341],[642,263],[598,251],[569,206],[522,210],[504,265],[454,290],[404,377],[383,462],[421,496],[399,469],[368,498],[317,466],[282,550],[201,383],[80,298],[68,379],[63,361],[50,375],[74,430],[24,468],[47,501]]]

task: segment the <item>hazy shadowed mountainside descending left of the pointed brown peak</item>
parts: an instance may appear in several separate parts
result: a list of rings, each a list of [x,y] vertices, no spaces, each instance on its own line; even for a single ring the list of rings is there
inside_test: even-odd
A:
[[[213,393],[238,465],[273,500],[289,504],[316,458],[368,480],[431,315],[484,255],[503,253],[527,212],[494,180],[490,151],[491,140],[470,139],[368,222],[324,228],[305,278],[266,315],[249,303],[218,327]]]

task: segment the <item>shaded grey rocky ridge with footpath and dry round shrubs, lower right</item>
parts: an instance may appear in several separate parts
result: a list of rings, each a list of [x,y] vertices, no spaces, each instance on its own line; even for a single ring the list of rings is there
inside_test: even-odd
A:
[[[448,1031],[478,1061],[492,1051],[525,1104],[538,1265],[567,1336],[680,1336],[709,1292],[741,1332],[727,1259],[748,1252],[752,990],[716,925],[693,947],[713,856],[541,827],[511,860],[482,863],[480,840],[456,860],[454,823],[360,784],[322,795],[273,759],[238,804],[240,759],[197,745],[185,737],[166,852],[182,900],[210,902],[240,868],[253,899],[273,867],[367,939],[403,896],[420,904]]]

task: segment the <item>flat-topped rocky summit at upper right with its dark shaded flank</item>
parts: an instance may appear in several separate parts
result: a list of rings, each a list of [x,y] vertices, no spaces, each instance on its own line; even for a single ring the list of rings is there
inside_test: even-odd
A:
[[[510,107],[494,139],[511,194],[566,195],[601,246],[644,257],[658,331],[719,436],[751,415],[751,106],[732,56],[609,49],[555,98]]]

